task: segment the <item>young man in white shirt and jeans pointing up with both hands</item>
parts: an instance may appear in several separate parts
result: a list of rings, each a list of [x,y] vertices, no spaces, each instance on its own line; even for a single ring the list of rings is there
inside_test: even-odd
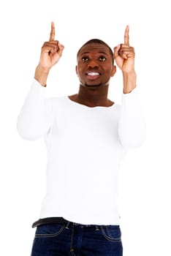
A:
[[[114,54],[102,40],[86,42],[77,53],[78,93],[47,99],[47,76],[63,50],[52,23],[18,116],[20,136],[45,138],[47,146],[47,194],[33,225],[37,231],[31,256],[121,256],[118,167],[129,148],[145,139],[129,26]],[[121,105],[107,97],[114,59],[123,73]]]

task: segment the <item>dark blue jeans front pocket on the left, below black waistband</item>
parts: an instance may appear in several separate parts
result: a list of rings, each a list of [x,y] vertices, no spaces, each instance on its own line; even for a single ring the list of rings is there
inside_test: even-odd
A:
[[[35,238],[55,237],[62,233],[66,225],[61,224],[47,224],[37,227]]]

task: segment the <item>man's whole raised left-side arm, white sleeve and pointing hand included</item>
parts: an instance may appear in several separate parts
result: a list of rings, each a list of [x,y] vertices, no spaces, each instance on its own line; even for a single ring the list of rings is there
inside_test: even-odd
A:
[[[64,46],[55,40],[55,26],[51,23],[50,39],[42,45],[34,81],[18,116],[18,132],[25,140],[44,137],[53,120],[52,100],[45,99],[47,75],[61,58]]]

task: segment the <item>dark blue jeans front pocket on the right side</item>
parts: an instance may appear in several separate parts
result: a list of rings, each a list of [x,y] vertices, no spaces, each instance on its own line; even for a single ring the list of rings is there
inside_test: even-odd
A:
[[[108,241],[119,242],[121,241],[121,229],[118,225],[101,226],[102,235]]]

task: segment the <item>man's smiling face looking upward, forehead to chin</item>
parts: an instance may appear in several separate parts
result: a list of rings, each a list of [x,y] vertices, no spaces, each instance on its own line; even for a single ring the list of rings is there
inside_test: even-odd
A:
[[[77,56],[77,76],[82,86],[105,86],[115,75],[115,66],[106,45],[85,45]]]

